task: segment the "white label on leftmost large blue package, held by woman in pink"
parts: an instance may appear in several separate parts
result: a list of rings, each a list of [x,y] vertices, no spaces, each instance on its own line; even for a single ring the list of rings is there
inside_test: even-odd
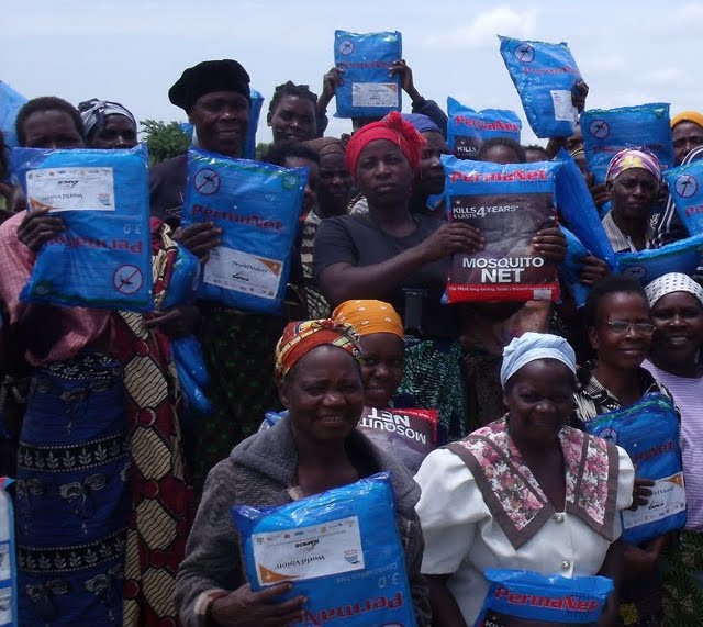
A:
[[[45,168],[26,173],[30,209],[114,211],[112,168]]]

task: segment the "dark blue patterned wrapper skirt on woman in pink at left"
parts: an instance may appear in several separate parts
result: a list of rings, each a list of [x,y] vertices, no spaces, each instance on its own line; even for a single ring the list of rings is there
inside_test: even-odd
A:
[[[21,625],[121,624],[129,469],[119,363],[81,354],[36,369],[18,463]]]

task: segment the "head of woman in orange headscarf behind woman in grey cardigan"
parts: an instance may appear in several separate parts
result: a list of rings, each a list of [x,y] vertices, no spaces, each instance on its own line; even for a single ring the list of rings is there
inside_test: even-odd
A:
[[[390,303],[356,300],[342,303],[332,312],[332,320],[350,325],[359,335],[366,405],[390,407],[403,378],[405,351],[405,334],[398,312]]]

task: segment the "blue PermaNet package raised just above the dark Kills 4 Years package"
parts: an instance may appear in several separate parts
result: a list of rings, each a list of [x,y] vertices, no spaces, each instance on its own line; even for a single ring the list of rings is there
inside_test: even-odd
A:
[[[447,98],[447,143],[459,159],[476,159],[483,142],[493,137],[510,137],[520,144],[523,124],[514,111],[473,111],[454,98]]]

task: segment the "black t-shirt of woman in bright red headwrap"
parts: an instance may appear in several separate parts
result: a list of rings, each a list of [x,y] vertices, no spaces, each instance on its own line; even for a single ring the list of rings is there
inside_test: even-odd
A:
[[[364,267],[392,259],[397,255],[417,246],[429,237],[444,222],[428,215],[413,215],[417,228],[405,237],[393,237],[381,231],[368,214],[343,215],[323,220],[315,236],[313,273],[320,273],[334,264],[352,264]],[[426,264],[405,277],[400,285],[382,300],[395,307],[408,326],[406,292],[426,290],[422,299],[422,329],[428,337],[458,337],[459,325],[456,309],[440,303],[447,284],[449,258]],[[410,303],[408,303],[410,305]],[[411,305],[412,306],[412,305]]]

